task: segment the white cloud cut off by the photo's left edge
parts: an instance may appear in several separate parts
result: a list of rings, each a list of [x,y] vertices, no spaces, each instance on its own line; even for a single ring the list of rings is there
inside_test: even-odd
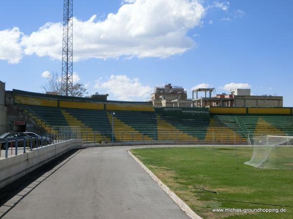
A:
[[[10,64],[17,64],[22,58],[19,40],[22,33],[19,28],[0,31],[0,60],[7,60]]]

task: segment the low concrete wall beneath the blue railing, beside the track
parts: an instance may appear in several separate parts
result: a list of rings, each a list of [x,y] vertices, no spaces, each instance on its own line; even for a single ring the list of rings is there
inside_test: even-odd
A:
[[[2,159],[0,160],[0,188],[63,155],[69,150],[82,147],[82,139],[73,139]]]

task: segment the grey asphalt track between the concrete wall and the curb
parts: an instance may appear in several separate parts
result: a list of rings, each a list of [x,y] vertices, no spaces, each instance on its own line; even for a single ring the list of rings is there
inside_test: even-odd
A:
[[[3,218],[188,219],[128,155],[128,148],[131,146],[93,147],[75,152],[23,189],[27,195]],[[9,209],[16,197],[11,204],[2,205],[0,212]]]

